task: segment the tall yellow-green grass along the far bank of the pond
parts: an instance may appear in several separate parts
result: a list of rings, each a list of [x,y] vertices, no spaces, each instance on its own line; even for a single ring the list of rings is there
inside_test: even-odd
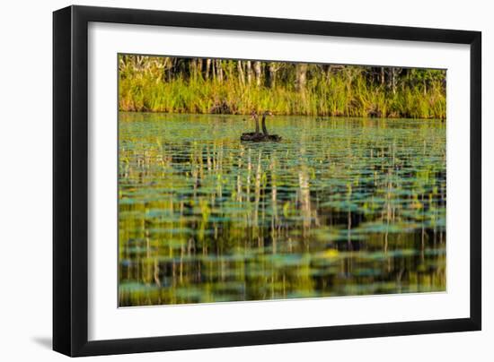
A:
[[[445,87],[433,82],[424,91],[401,84],[392,91],[368,82],[363,73],[309,80],[304,91],[286,84],[247,85],[234,77],[219,82],[200,75],[178,76],[163,82],[150,72],[120,73],[119,109],[198,114],[269,109],[278,115],[445,118]]]

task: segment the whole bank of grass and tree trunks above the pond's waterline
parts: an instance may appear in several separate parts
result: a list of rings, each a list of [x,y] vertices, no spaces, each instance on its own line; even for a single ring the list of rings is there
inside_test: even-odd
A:
[[[445,119],[445,70],[119,56],[119,110]]]

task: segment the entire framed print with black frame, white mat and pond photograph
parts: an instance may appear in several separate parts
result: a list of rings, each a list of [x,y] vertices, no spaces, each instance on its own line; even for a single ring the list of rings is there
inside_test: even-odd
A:
[[[53,345],[481,329],[481,33],[54,13]]]

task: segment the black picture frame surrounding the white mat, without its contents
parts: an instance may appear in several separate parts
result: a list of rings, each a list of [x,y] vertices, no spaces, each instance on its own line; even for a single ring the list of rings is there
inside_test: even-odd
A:
[[[470,45],[470,317],[89,341],[88,23],[248,30]],[[481,330],[481,32],[69,6],[53,13],[53,349],[93,356]]]

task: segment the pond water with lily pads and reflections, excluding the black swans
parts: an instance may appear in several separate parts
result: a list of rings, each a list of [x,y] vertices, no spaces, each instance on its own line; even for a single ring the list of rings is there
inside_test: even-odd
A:
[[[120,113],[119,306],[445,290],[445,123]]]

